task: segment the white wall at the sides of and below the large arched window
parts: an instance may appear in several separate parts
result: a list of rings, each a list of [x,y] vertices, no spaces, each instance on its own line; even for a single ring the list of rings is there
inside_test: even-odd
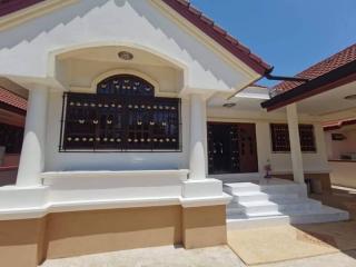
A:
[[[62,93],[51,92],[47,121],[46,171],[189,168],[189,100],[181,101],[181,152],[59,152],[61,110]]]

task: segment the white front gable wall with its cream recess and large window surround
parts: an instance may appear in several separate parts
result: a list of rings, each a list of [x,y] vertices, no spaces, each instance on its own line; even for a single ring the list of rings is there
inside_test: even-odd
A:
[[[168,92],[236,90],[258,77],[159,4],[157,0],[80,0],[0,32],[0,77],[11,77],[28,89],[44,85],[50,90],[44,171],[189,167],[189,100],[182,100],[182,152],[59,152],[62,92],[56,90],[77,87],[86,91],[99,75],[127,66],[157,80]],[[110,60],[86,61],[72,52],[107,47],[117,48]],[[122,48],[151,53],[170,62],[172,69],[159,65],[160,60],[136,67],[135,62],[117,63],[117,52]],[[140,62],[140,55],[134,56]]]

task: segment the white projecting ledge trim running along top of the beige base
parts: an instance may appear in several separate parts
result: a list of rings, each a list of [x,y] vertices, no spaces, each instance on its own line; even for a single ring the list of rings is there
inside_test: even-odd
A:
[[[0,188],[0,220],[41,218],[51,212],[181,205],[226,205],[221,181],[195,182],[185,196],[188,170],[44,172],[43,186]]]

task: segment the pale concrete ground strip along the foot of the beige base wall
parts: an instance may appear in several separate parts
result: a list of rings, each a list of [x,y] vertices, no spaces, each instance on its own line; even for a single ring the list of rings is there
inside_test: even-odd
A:
[[[245,267],[227,247],[186,250],[166,246],[47,260],[42,267]]]

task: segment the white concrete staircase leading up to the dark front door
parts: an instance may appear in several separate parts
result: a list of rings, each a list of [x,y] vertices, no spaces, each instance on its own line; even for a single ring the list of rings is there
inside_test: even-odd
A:
[[[227,206],[229,229],[347,220],[347,211],[307,197],[305,185],[281,179],[225,184],[234,197]]]

